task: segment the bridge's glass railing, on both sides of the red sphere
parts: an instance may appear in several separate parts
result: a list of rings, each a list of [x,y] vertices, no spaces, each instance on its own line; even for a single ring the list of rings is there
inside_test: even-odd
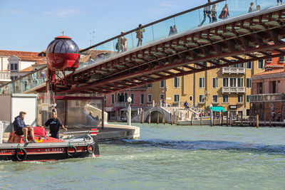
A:
[[[130,51],[139,46],[158,41],[163,38],[190,31],[211,23],[224,21],[235,16],[252,14],[263,9],[277,6],[276,0],[219,0],[204,4],[179,14],[168,16],[140,28],[115,36],[107,41],[90,46],[81,53],[93,49],[96,58],[88,63],[80,63],[79,68],[98,63],[101,60]],[[173,29],[176,28],[176,29]],[[86,53],[84,53],[86,54]],[[83,54],[81,55],[83,56]],[[0,86],[0,93],[23,93],[46,82],[46,68],[41,68],[31,75],[26,75]]]

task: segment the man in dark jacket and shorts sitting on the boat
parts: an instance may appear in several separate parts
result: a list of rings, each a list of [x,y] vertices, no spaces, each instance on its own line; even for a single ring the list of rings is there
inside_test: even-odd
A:
[[[15,117],[15,120],[13,122],[15,134],[24,134],[24,142],[28,143],[28,132],[30,132],[31,142],[36,142],[33,135],[33,128],[30,125],[26,125],[26,123],[24,122],[25,116],[26,112],[20,112],[19,116]]]

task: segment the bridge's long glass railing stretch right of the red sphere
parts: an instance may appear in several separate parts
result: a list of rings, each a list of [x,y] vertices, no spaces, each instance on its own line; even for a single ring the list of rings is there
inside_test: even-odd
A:
[[[249,11],[249,7],[252,2],[254,3],[252,6],[253,12],[259,11],[257,10],[257,6],[259,6],[260,10],[276,6],[276,1],[274,0],[213,1],[210,4],[204,4],[194,9],[189,9],[179,14],[168,16],[165,19],[160,19],[159,21],[135,28],[132,31],[122,33],[121,35],[110,38],[107,41],[103,41],[94,46],[83,49],[81,52],[93,48],[94,51],[98,51],[96,53],[98,56],[94,60],[95,62],[98,62],[112,56],[117,56],[125,51],[139,48],[140,46],[147,46],[147,44],[154,41],[175,36],[177,33],[190,31],[194,28],[206,26],[214,22],[224,21],[225,19],[230,19],[235,16],[252,14],[252,12]],[[228,14],[224,11],[226,4],[228,5]],[[213,6],[215,6],[215,11]],[[210,11],[205,13],[204,10]],[[214,15],[216,15],[217,20],[213,19]],[[174,26],[177,28],[177,31],[171,31],[170,27],[173,28]],[[105,51],[105,53],[102,51]],[[140,57],[137,59],[139,58]]]

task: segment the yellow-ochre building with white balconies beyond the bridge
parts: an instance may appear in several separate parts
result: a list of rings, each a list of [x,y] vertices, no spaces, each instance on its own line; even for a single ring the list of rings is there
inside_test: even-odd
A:
[[[249,115],[252,75],[264,72],[264,63],[241,63],[152,83],[147,85],[147,102],[166,100],[167,105],[183,106],[187,101],[202,111],[212,104],[233,114]]]

